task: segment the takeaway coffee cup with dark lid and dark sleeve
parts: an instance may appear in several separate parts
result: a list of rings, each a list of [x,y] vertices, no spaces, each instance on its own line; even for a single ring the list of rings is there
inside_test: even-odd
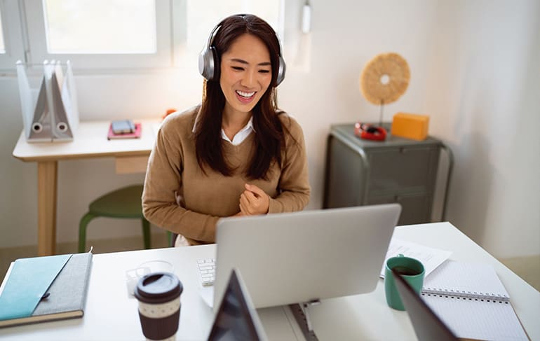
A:
[[[175,340],[182,283],[170,272],[152,272],[135,287],[142,333],[147,340]]]

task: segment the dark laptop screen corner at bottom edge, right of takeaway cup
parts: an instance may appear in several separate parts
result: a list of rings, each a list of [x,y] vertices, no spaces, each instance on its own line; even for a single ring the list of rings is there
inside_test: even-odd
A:
[[[266,340],[238,270],[233,269],[208,340]]]

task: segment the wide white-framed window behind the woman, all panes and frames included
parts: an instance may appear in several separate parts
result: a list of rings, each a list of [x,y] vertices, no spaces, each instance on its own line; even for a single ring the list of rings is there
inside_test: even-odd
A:
[[[255,13],[283,37],[284,6],[285,0],[0,0],[0,69],[15,71],[17,60],[70,60],[77,71],[192,69],[222,18]]]

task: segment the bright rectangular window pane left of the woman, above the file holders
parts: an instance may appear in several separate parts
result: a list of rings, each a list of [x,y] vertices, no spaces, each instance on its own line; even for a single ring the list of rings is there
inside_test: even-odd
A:
[[[44,0],[48,53],[156,53],[154,0]]]

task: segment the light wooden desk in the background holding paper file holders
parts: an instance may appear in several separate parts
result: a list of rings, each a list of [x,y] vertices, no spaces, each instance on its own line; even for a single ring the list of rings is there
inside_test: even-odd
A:
[[[159,120],[142,123],[140,139],[107,140],[110,121],[79,123],[70,142],[28,143],[20,134],[13,156],[38,165],[38,255],[55,253],[58,161],[83,158],[116,158],[117,172],[144,172],[156,139]]]

